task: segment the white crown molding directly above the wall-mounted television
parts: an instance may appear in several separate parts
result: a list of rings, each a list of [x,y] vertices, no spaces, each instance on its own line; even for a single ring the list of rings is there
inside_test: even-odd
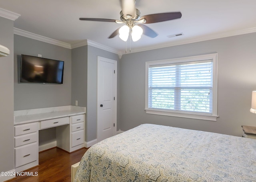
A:
[[[36,39],[38,41],[51,43],[51,44],[54,44],[54,45],[58,45],[58,46],[61,46],[61,47],[71,49],[71,45],[69,43],[65,43],[65,42],[62,42],[62,41],[57,41],[57,40],[54,40],[54,39],[51,39],[51,38],[48,38],[48,37],[44,37],[44,36],[41,36],[41,35],[37,35],[35,33],[31,33],[29,31],[25,31],[25,30],[22,30],[22,29],[14,28],[14,34],[21,35],[21,36],[28,37],[28,38],[31,38],[31,39]]]

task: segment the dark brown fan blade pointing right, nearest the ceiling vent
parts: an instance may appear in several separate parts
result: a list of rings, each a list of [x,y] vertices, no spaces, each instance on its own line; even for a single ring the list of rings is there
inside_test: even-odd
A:
[[[181,16],[182,14],[180,12],[158,13],[142,16],[140,20],[145,19],[146,23],[157,23],[178,19],[181,18]]]

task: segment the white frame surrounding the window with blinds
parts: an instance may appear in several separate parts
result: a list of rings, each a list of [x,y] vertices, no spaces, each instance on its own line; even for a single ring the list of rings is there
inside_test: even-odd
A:
[[[166,65],[166,64],[172,64],[172,63],[186,63],[186,62],[191,62],[191,61],[205,61],[205,60],[209,60],[209,59],[212,60],[212,63],[213,63],[212,114],[148,108],[148,68],[150,66]],[[209,121],[217,120],[217,117],[218,117],[218,114],[217,114],[218,53],[190,56],[190,57],[182,57],[182,58],[174,58],[174,59],[157,60],[157,61],[146,61],[145,65],[146,65],[146,69],[145,69],[145,78],[146,78],[145,79],[145,111],[147,114],[185,117],[185,118],[191,118],[191,119],[203,119],[203,120],[209,120]]]

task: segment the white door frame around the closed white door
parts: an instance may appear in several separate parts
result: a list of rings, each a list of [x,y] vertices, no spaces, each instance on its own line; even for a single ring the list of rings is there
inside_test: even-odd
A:
[[[115,102],[114,102],[114,112],[115,112],[115,116],[114,116],[114,121],[112,124],[115,123],[115,126],[114,126],[114,133],[113,133],[113,136],[116,135],[116,128],[117,128],[117,61],[116,60],[113,60],[113,59],[108,59],[108,58],[105,58],[105,57],[100,57],[100,56],[97,56],[97,108],[96,108],[96,113],[97,113],[97,142],[99,142],[99,138],[98,138],[98,106],[100,105],[100,102],[99,102],[99,94],[98,94],[98,79],[99,79],[99,62],[100,61],[105,61],[105,62],[108,62],[108,63],[113,63],[114,66],[115,66],[115,82],[116,82],[116,85],[115,85],[115,88],[114,88],[114,94],[115,94]]]

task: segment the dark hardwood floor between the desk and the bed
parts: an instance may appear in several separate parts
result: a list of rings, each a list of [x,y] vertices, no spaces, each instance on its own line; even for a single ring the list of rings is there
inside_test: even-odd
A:
[[[71,182],[71,165],[79,162],[86,151],[85,148],[70,154],[58,148],[44,151],[39,153],[39,165],[26,170],[34,176],[17,176],[8,182]]]

